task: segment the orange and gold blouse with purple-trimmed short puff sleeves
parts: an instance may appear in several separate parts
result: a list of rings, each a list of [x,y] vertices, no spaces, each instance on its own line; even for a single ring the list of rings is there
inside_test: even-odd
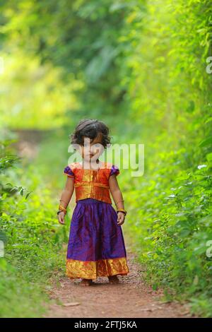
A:
[[[99,170],[84,170],[81,162],[72,162],[64,168],[64,174],[74,178],[76,202],[80,199],[94,198],[112,204],[109,177],[119,174],[119,168],[111,162],[102,162]]]

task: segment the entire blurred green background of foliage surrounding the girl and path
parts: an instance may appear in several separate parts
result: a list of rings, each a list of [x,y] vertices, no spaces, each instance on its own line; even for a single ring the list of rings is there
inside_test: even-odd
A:
[[[119,175],[127,243],[154,290],[211,316],[211,1],[0,6],[1,316],[40,316],[64,276],[74,199],[65,227],[55,214],[80,119],[144,144],[143,177]]]

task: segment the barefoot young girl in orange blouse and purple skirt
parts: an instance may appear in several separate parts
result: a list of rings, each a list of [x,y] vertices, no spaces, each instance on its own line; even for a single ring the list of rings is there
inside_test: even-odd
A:
[[[117,183],[119,168],[101,162],[100,147],[110,143],[109,129],[98,120],[83,119],[71,134],[71,143],[80,150],[82,162],[64,168],[66,186],[61,194],[58,219],[64,224],[66,207],[75,188],[76,206],[71,218],[66,256],[66,275],[81,278],[79,285],[91,285],[98,276],[119,283],[117,275],[127,275],[126,249],[121,225],[126,211]],[[85,143],[87,142],[87,143]],[[112,201],[117,211],[112,207]]]

